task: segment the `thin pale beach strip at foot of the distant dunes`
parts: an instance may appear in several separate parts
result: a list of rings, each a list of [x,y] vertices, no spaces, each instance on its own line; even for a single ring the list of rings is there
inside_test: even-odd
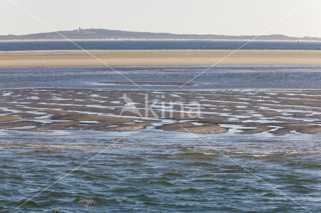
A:
[[[71,41],[249,41],[250,39],[187,39],[187,38],[79,38]],[[67,39],[1,39],[0,42],[34,42],[34,41],[69,41]],[[278,40],[278,39],[254,39],[255,41],[266,42],[321,42],[320,40]],[[70,41],[69,41],[70,42]]]

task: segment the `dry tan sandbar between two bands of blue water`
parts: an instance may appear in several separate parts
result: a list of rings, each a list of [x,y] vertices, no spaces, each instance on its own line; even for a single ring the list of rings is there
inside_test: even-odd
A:
[[[212,65],[233,50],[89,50],[111,66]],[[0,51],[0,67],[103,66],[83,50]],[[217,65],[321,65],[321,50],[238,50]]]

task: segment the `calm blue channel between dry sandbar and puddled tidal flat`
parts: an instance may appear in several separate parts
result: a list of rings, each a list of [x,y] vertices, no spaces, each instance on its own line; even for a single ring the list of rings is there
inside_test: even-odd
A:
[[[321,89],[321,66],[214,66],[183,86],[209,66],[114,66],[128,81],[106,66],[0,68],[0,88],[64,87],[144,90],[203,89]],[[97,83],[110,81],[111,83]],[[141,81],[158,82],[156,84]],[[176,86],[164,81],[179,82]]]

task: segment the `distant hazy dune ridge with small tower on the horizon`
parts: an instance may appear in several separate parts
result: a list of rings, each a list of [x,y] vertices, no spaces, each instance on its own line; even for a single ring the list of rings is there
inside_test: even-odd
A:
[[[216,35],[216,34],[172,34],[157,32],[136,32],[112,29],[79,29],[59,31],[69,39],[203,39],[203,40],[250,40],[256,35]],[[57,32],[42,32],[25,35],[0,35],[0,40],[61,40]],[[290,37],[282,34],[259,35],[256,40],[273,41],[321,41],[319,37]]]

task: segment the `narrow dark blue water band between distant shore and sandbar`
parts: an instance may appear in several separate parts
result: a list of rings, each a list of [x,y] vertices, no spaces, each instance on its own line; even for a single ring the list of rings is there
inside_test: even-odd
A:
[[[75,41],[84,49],[237,49],[247,41]],[[79,49],[70,41],[0,42],[0,51]],[[321,42],[251,41],[241,49],[315,49]]]

